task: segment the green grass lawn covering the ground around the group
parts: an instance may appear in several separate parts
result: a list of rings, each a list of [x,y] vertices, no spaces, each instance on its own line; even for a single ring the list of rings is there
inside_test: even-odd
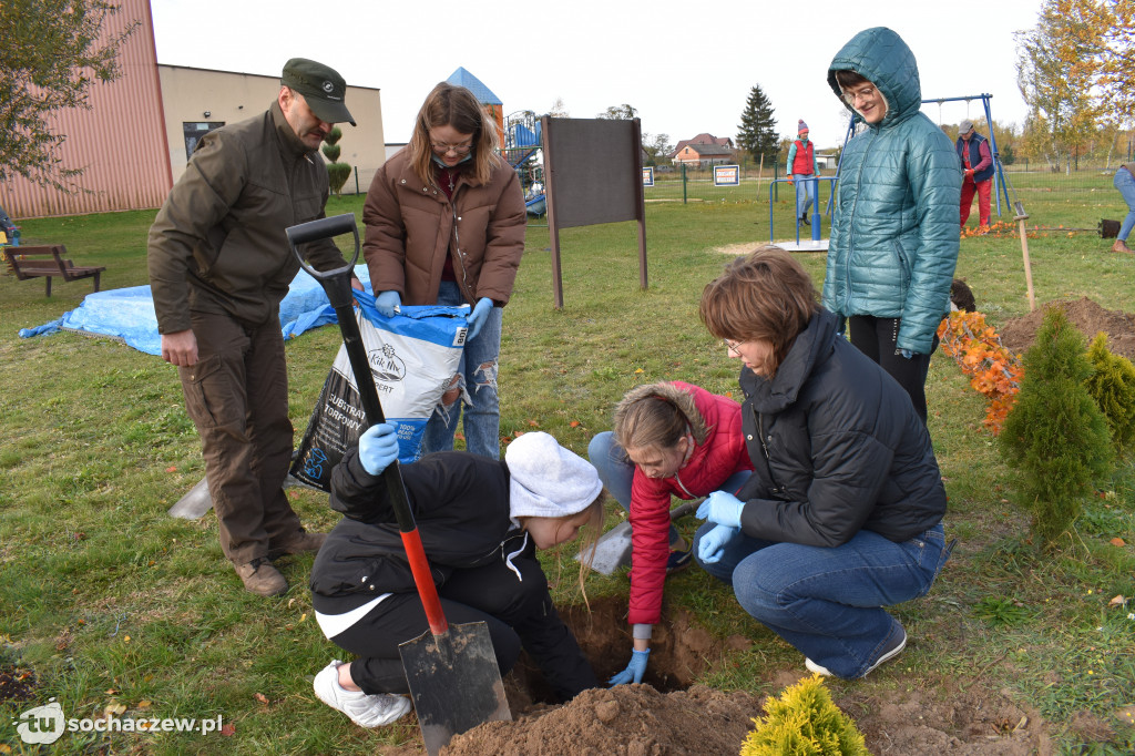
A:
[[[1094,228],[1100,218],[1123,217],[1110,179],[1099,179],[1099,192],[1069,193],[1044,191],[1045,178],[1012,178],[1031,226]],[[792,210],[782,204],[777,236],[785,238]],[[348,211],[361,215],[360,198],[328,208]],[[114,288],[146,283],[152,218],[143,211],[20,225],[25,243],[65,243],[77,264],[106,264],[104,287]],[[718,247],[767,238],[767,204],[648,204],[649,288],[640,291],[633,224],[565,229],[565,305],[555,310],[548,230],[533,222],[505,311],[502,435],[538,428],[586,454],[590,437],[609,428],[614,403],[638,384],[682,379],[737,395],[738,363],[701,327],[698,297],[729,259]],[[1028,243],[1039,302],[1090,296],[1108,309],[1135,309],[1135,260],[1104,252],[1110,244],[1095,234],[1042,232]],[[800,259],[819,284],[824,255]],[[1028,311],[1019,240],[965,238],[958,276],[993,325]],[[283,561],[293,586],[286,596],[258,598],[225,562],[211,514],[188,522],[166,514],[203,474],[175,369],[111,339],[17,336],[77,306],[91,283],[52,288],[47,299],[42,282],[0,277],[0,670],[18,670],[34,684],[31,700],[0,702],[0,753],[8,753],[3,744],[31,750],[9,722],[51,697],[68,717],[96,717],[110,706],[125,707],[124,716],[221,716],[233,728],[222,740],[67,733],[53,746],[59,753],[370,754],[415,742],[412,725],[363,731],[312,694],[311,677],[338,652],[312,618],[310,556]],[[288,343],[297,438],[338,344],[334,327]],[[1075,543],[1043,554],[982,429],[984,400],[941,353],[928,398],[948,530],[959,544],[931,594],[897,608],[911,636],[902,660],[867,681],[832,687],[880,697],[911,688],[1003,689],[1041,712],[1061,753],[1127,753],[1135,734],[1120,711],[1135,704],[1135,604],[1109,603],[1135,594],[1130,460],[1093,496]],[[326,496],[292,495],[310,528],[337,520]],[[612,513],[609,522],[616,519]],[[1115,538],[1126,545],[1112,545]],[[562,604],[581,603],[574,551],[548,557]],[[588,582],[592,602],[625,593],[622,573]],[[777,692],[776,670],[802,670],[799,654],[697,569],[672,579],[667,602],[720,637],[754,641],[711,664],[704,682]],[[1112,731],[1091,741],[1091,751],[1074,724],[1085,716]]]

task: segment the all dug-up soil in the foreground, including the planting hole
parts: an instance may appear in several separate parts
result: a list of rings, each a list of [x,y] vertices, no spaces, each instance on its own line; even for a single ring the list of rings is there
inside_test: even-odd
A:
[[[606,602],[591,614],[564,611],[600,680],[625,664],[630,645],[622,602]],[[587,690],[564,705],[548,700],[539,674],[524,664],[505,678],[513,722],[490,722],[453,739],[445,756],[482,754],[581,754],[594,756],[737,756],[764,698],[693,684],[723,654],[743,649],[747,638],[714,638],[679,612],[655,625],[651,684]],[[799,670],[770,670],[779,695],[804,677]],[[856,721],[872,754],[964,756],[1046,755],[1052,745],[1043,720],[1004,694],[951,690],[940,697],[899,690],[885,679],[830,686],[835,704]],[[400,751],[401,753],[401,751]]]

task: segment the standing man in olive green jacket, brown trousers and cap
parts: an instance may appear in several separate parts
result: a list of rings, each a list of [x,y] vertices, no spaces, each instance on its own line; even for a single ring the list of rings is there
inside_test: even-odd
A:
[[[161,356],[177,366],[201,436],[221,549],[262,596],[287,590],[271,558],[325,538],[304,531],[283,490],[293,428],[279,303],[300,269],[284,229],[323,217],[317,150],[335,123],[354,125],[345,90],[331,68],[289,60],[267,112],[201,140],[150,228]],[[345,264],[330,240],[306,257]]]

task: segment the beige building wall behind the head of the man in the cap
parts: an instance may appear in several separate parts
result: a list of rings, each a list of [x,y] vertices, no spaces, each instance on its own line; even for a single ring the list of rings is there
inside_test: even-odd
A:
[[[283,65],[280,61],[281,68]],[[158,74],[165,103],[169,167],[175,182],[185,173],[188,162],[186,127],[191,134],[204,133],[221,124],[259,118],[280,90],[278,76],[163,65],[158,66]],[[348,85],[346,106],[359,125],[339,124],[343,131],[339,162],[350,163],[358,170],[358,188],[365,194],[375,171],[386,162],[379,90]],[[343,193],[354,192],[355,174],[352,173],[343,185]]]

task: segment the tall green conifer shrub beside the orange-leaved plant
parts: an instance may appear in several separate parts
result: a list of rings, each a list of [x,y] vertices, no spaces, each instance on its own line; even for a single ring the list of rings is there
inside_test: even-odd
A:
[[[1062,308],[1049,308],[1025,353],[1017,403],[998,436],[1033,510],[1033,532],[1050,546],[1069,531],[1092,492],[1110,474],[1108,423],[1087,390],[1092,376],[1084,335]]]

